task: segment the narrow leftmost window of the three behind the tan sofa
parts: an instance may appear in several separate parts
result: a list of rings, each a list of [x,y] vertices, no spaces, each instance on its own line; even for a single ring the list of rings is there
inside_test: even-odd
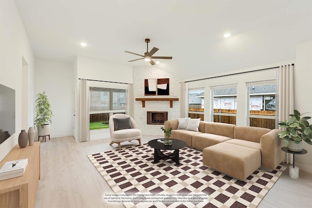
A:
[[[204,88],[189,89],[189,117],[204,120]]]

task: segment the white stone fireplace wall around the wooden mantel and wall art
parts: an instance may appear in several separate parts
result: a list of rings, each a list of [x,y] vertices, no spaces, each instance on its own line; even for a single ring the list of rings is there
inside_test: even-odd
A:
[[[163,125],[147,125],[146,113],[148,111],[168,112],[168,120],[180,117],[180,82],[182,79],[168,74],[156,67],[134,67],[134,98],[179,98],[179,101],[173,101],[173,108],[170,108],[169,101],[145,101],[145,108],[142,108],[141,101],[134,101],[134,119],[142,134],[162,135],[160,127]],[[169,95],[144,95],[144,79],[169,78]]]

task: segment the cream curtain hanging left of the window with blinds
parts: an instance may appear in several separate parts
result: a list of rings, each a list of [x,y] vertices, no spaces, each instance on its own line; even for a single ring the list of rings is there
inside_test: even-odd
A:
[[[79,90],[79,142],[90,140],[90,114],[89,114],[89,83],[80,79]]]

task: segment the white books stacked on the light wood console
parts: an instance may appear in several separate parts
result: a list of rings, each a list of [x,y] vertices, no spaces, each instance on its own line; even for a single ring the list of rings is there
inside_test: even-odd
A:
[[[28,165],[28,158],[6,162],[0,169],[0,177],[5,176],[5,175],[13,175],[16,173],[20,173],[20,174],[22,173],[23,175],[27,165]],[[17,176],[14,176],[14,177],[17,177]]]

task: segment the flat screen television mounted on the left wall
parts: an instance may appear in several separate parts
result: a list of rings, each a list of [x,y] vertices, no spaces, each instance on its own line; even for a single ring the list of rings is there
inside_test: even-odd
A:
[[[0,144],[15,133],[15,90],[0,84]]]

